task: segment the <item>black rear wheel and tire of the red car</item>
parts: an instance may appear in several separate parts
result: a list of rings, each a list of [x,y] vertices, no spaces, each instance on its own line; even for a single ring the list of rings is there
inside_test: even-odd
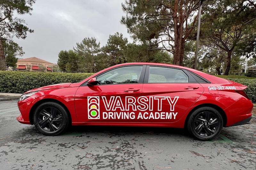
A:
[[[200,140],[212,140],[223,128],[220,112],[212,107],[200,107],[188,117],[188,131],[191,136]]]

